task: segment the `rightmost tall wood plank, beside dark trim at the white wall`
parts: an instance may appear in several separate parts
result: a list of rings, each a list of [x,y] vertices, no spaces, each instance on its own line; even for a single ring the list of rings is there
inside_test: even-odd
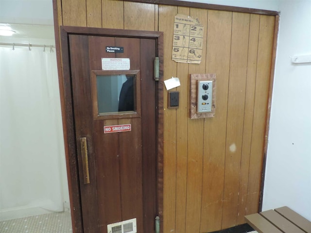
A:
[[[260,16],[246,213],[258,212],[275,18]]]

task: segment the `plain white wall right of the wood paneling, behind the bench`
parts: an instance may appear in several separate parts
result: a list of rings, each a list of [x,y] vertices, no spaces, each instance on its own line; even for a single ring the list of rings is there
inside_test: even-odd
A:
[[[280,11],[263,210],[288,206],[311,220],[311,0],[191,0]]]

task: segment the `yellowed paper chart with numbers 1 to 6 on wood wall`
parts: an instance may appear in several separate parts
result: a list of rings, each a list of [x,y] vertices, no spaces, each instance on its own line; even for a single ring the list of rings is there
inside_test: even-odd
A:
[[[176,15],[174,20],[172,60],[183,63],[201,62],[203,26],[198,18]]]

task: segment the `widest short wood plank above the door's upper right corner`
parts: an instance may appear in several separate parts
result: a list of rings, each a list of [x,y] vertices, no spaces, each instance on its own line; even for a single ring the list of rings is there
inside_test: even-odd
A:
[[[124,29],[155,31],[155,5],[125,1]]]

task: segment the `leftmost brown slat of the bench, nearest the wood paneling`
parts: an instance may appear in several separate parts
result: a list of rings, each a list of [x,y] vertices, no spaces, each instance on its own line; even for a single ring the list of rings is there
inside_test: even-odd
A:
[[[282,233],[267,219],[259,214],[252,214],[245,216],[246,222],[259,233]]]

